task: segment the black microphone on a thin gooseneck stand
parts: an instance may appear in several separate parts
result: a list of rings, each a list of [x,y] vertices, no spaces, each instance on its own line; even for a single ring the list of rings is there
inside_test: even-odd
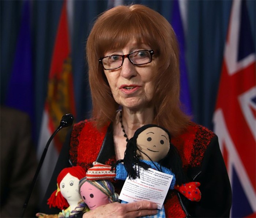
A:
[[[39,174],[39,171],[41,170],[42,164],[44,162],[45,156],[46,156],[46,152],[48,150],[48,147],[50,145],[50,142],[52,141],[53,137],[56,135],[57,132],[60,131],[60,129],[71,126],[72,123],[74,121],[74,116],[71,113],[65,114],[63,115],[63,117],[61,118],[60,121],[60,125],[58,126],[58,128],[53,132],[52,136],[49,138],[49,140],[47,141],[46,145],[45,145],[45,149],[44,152],[42,153],[41,159],[39,161],[38,167],[37,167],[37,171],[35,172],[31,187],[30,187],[30,191],[29,194],[27,195],[26,201],[24,202],[23,205],[23,209],[22,209],[22,213],[20,215],[20,217],[23,217],[25,210],[27,208],[27,203],[29,202],[30,196],[32,194],[33,188],[35,186],[35,182],[37,181],[37,177]]]

